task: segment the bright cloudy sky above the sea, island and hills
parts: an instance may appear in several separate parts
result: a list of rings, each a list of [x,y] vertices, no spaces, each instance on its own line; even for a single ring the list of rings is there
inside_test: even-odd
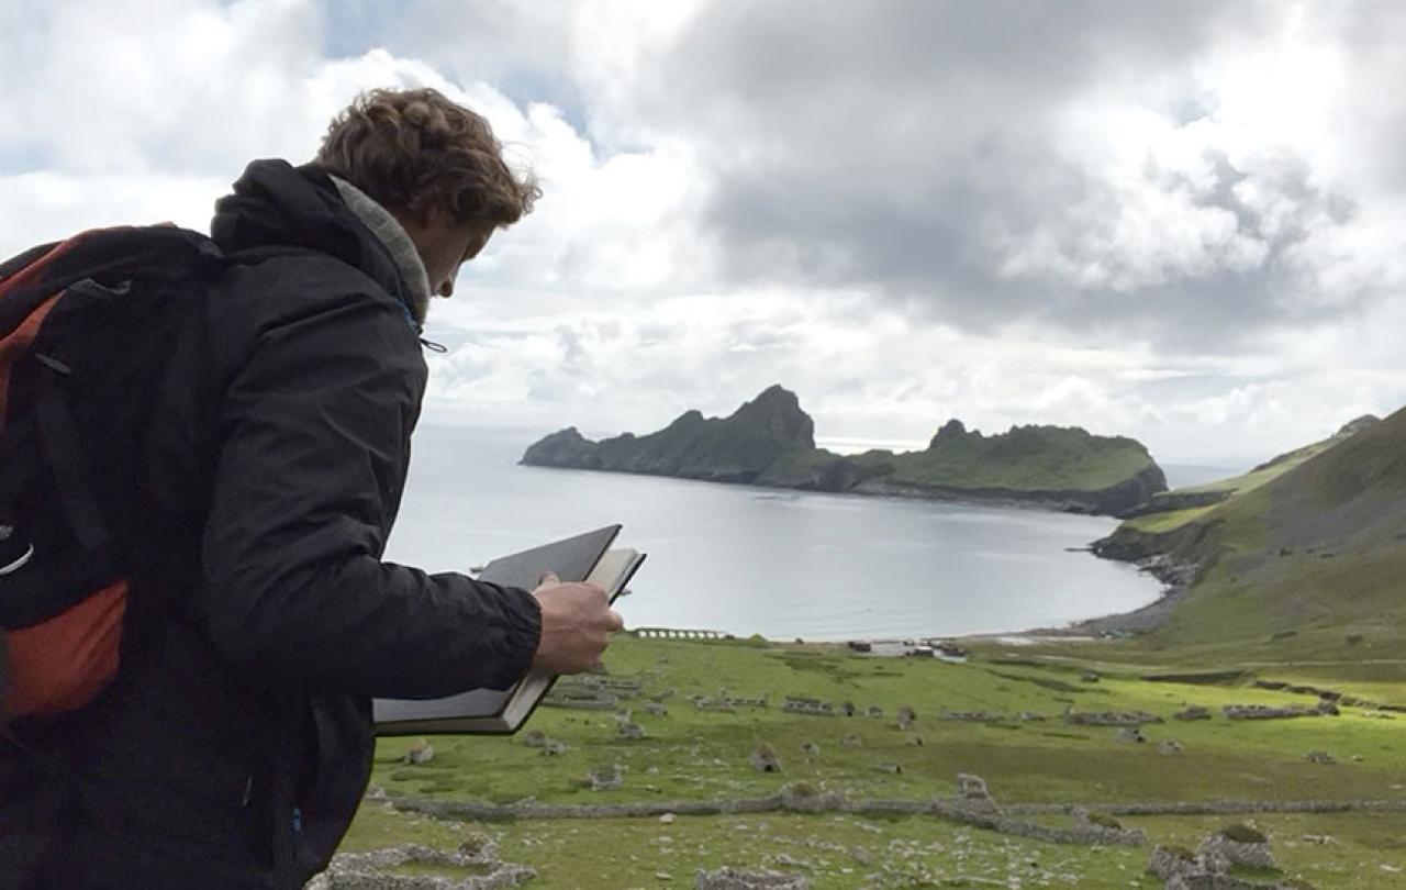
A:
[[[204,231],[432,86],[544,195],[432,305],[423,423],[779,382],[842,449],[959,418],[1249,465],[1406,404],[1403,44],[1391,1],[0,0],[0,254]]]

